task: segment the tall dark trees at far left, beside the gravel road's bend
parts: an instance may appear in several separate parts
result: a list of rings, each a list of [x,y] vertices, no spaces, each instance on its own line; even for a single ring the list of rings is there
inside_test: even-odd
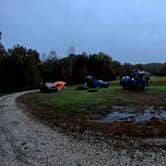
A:
[[[0,52],[0,91],[37,87],[40,82],[39,53],[16,45]]]

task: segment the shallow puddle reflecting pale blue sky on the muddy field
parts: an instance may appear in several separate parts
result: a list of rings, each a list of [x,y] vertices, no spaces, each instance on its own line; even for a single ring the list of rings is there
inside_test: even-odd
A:
[[[146,123],[149,122],[152,118],[157,118],[159,120],[166,119],[166,110],[146,109],[142,113],[115,111],[108,114],[106,117],[99,120],[98,122]]]

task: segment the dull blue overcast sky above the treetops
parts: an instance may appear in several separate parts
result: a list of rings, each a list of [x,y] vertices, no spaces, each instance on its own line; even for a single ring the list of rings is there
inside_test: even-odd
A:
[[[6,48],[103,51],[130,63],[166,62],[165,0],[0,0]]]

